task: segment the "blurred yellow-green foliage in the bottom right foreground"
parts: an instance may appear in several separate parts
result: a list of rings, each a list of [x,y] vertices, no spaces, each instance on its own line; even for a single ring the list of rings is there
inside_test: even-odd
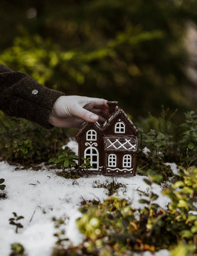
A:
[[[103,202],[86,201],[79,209],[82,216],[77,219],[83,242],[66,249],[55,247],[52,255],[128,256],[136,251],[156,252],[164,248],[172,250],[174,256],[196,255],[197,168],[182,171],[182,180],[173,179],[162,190],[169,198],[167,209],[157,204],[159,195],[153,193],[156,190],[152,185],[162,179],[153,170],[148,172],[149,179],[144,179],[150,190],[139,191],[139,203],[144,207],[137,209],[129,200],[113,196]]]

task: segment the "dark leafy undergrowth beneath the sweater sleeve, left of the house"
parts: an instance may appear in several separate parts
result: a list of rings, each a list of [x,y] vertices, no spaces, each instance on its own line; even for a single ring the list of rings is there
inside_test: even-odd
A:
[[[63,128],[47,130],[25,119],[9,118],[0,111],[1,159],[25,167],[48,162],[67,144],[66,132]]]

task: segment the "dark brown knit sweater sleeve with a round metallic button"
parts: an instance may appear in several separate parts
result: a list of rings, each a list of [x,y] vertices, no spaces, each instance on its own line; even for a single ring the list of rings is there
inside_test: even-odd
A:
[[[0,109],[9,116],[26,118],[44,128],[57,98],[64,93],[49,89],[25,73],[0,64]]]

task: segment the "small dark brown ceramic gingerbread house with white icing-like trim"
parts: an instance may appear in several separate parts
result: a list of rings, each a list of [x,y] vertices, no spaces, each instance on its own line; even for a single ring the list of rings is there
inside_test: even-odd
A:
[[[79,155],[79,174],[84,158],[90,158],[88,174],[135,176],[138,130],[117,101],[108,101],[108,118],[101,125],[87,122],[76,135]]]

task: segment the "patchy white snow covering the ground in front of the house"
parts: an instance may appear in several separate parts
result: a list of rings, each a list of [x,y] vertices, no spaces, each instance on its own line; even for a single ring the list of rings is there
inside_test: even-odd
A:
[[[70,141],[68,147],[77,151],[75,141]],[[47,170],[44,164],[39,171],[15,170],[15,168],[14,165],[0,162],[0,178],[5,179],[6,188],[3,192],[7,195],[6,199],[0,200],[0,256],[9,256],[10,245],[13,243],[21,243],[28,256],[50,256],[57,241],[57,237],[54,236],[57,230],[52,217],[65,219],[65,236],[72,243],[82,242],[82,234],[75,225],[75,220],[81,216],[77,210],[80,202],[82,198],[85,200],[99,198],[100,201],[108,198],[104,188],[94,188],[92,184],[95,181],[111,182],[112,177],[92,175],[88,178],[81,177],[75,182],[57,176],[55,170]],[[176,165],[172,164],[172,168],[177,171]],[[125,187],[119,189],[119,197],[132,201],[135,208],[143,207],[138,203],[140,196],[136,190],[148,189],[143,178],[138,175],[131,178],[116,178],[119,183],[126,185],[126,192]],[[160,194],[160,191],[160,186],[154,185],[153,192],[159,195],[155,202],[165,209],[169,201]],[[15,226],[9,224],[13,212],[24,217],[19,220],[23,228],[18,229],[18,233],[15,232]],[[139,254],[135,253],[135,255]],[[145,252],[142,255],[151,254]],[[162,250],[155,255],[168,256],[169,252]]]

